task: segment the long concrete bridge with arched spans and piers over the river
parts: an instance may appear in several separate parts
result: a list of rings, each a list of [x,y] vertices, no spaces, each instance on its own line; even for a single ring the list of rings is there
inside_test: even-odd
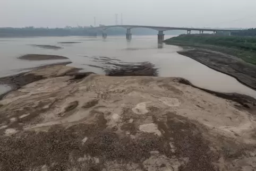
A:
[[[133,28],[148,28],[158,31],[158,40],[163,41],[164,40],[164,31],[167,30],[186,30],[187,34],[191,33],[192,31],[199,31],[200,34],[203,34],[203,31],[212,31],[214,34],[216,34],[218,31],[225,31],[229,32],[229,35],[231,35],[231,32],[237,32],[241,30],[227,30],[227,29],[206,29],[206,28],[188,28],[188,27],[158,27],[158,26],[148,26],[148,25],[100,25],[100,27],[94,27],[91,29],[95,29],[98,31],[103,32],[103,38],[107,38],[107,33],[105,30],[109,28],[115,28],[115,27],[121,27],[126,29],[126,39],[130,40],[132,38],[131,29]],[[94,33],[95,37],[97,37],[97,33]]]

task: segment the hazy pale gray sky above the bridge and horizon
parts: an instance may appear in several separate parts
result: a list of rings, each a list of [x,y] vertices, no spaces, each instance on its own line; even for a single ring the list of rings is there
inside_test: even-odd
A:
[[[124,24],[256,28],[256,0],[0,0],[0,27]]]

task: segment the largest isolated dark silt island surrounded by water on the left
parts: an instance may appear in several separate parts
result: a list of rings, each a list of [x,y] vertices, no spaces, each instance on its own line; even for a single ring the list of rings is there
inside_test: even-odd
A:
[[[55,59],[69,59],[64,56],[58,56],[58,55],[40,55],[40,54],[27,54],[18,57],[19,59],[27,59],[31,61],[42,61],[42,60],[55,60]]]

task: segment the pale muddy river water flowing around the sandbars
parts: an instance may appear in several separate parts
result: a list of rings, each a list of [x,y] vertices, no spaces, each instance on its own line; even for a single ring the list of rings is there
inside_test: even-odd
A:
[[[72,61],[70,66],[98,74],[104,74],[102,67],[113,67],[109,61],[106,61],[108,58],[116,59],[111,63],[149,61],[159,68],[159,76],[182,77],[202,88],[220,92],[237,92],[256,98],[256,91],[244,86],[231,76],[211,70],[189,57],[177,54],[177,50],[182,49],[178,46],[159,46],[156,39],[156,36],[133,36],[131,41],[126,41],[125,37],[108,37],[107,39],[101,37],[1,38],[0,76],[27,71],[30,67],[43,64],[69,61],[67,59],[49,61],[17,59],[24,54],[66,56]],[[81,43],[62,44],[59,42]],[[31,45],[51,45],[61,48]]]

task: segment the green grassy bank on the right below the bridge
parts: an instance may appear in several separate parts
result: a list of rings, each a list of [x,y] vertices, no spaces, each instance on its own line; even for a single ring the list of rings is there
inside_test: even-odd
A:
[[[164,41],[169,45],[194,46],[227,53],[256,65],[256,37],[180,35]]]

